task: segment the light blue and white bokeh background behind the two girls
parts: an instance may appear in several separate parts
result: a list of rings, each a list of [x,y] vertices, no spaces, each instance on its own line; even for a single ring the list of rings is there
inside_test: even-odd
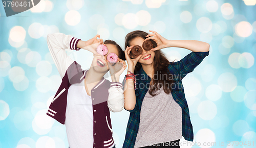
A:
[[[256,0],[41,0],[34,8],[10,17],[1,5],[0,147],[68,147],[65,126],[46,115],[61,82],[47,34],[61,32],[82,40],[100,34],[124,50],[124,37],[134,30],[209,43],[209,56],[183,79],[194,141],[217,142],[217,147],[254,147],[255,4]],[[176,47],[162,51],[170,61],[190,53]],[[90,52],[67,50],[67,54],[83,69],[90,67]],[[111,112],[117,147],[123,144],[129,114],[126,110]],[[254,146],[227,146],[231,140],[254,141]],[[218,146],[223,141],[225,146]]]

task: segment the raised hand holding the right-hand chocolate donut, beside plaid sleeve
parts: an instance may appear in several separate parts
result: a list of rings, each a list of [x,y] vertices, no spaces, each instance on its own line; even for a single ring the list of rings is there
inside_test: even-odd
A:
[[[157,47],[152,48],[151,51],[157,51],[161,50],[162,48],[166,48],[168,44],[168,40],[162,37],[160,34],[158,34],[155,31],[150,30],[150,32],[153,32],[152,34],[148,34],[146,36],[146,39],[144,41],[152,39],[157,43]]]

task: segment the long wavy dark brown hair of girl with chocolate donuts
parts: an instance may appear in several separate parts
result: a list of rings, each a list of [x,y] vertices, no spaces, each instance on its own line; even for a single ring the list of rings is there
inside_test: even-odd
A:
[[[125,37],[125,47],[131,46],[130,42],[136,37],[141,37],[143,39],[146,39],[146,35],[148,35],[148,33],[144,32],[144,31],[140,31],[140,30],[130,32]],[[154,40],[151,40],[151,41],[153,43],[153,47],[156,47],[157,43]],[[155,52],[155,57],[154,57],[154,61],[153,61],[154,62],[154,77],[150,82],[150,88],[151,88],[150,94],[152,96],[155,96],[156,94],[153,94],[153,92],[155,92],[156,89],[160,89],[162,86],[164,86],[163,87],[164,92],[169,94],[170,92],[172,92],[172,86],[175,83],[175,81],[173,79],[174,77],[169,75],[172,73],[169,73],[169,70],[168,70],[168,65],[172,64],[173,62],[170,63],[162,51],[157,50],[154,52]],[[136,74],[137,71],[140,70],[140,68],[141,68],[141,64],[139,62],[137,62],[136,66],[135,66],[134,73]],[[158,86],[158,84],[160,84],[160,85]]]

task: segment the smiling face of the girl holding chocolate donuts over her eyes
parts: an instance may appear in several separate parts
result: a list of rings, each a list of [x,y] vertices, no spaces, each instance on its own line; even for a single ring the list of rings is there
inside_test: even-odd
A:
[[[139,61],[140,64],[150,65],[154,61],[155,52],[154,51],[145,51],[142,47],[144,39],[141,37],[136,37],[131,40],[130,45],[139,45],[142,48],[142,56],[140,57]]]

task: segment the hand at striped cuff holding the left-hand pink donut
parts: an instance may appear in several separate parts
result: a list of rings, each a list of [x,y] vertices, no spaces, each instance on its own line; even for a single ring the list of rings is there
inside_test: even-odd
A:
[[[97,39],[99,38],[99,39]],[[96,52],[96,49],[98,47],[98,45],[100,44],[104,44],[103,40],[100,38],[100,35],[96,35],[95,37],[93,37],[92,39],[85,41],[84,42],[84,47],[82,47],[84,50],[88,50],[89,52],[92,52],[93,54],[95,54],[96,56],[100,56],[100,54],[98,54]],[[105,45],[105,44],[104,44]]]

